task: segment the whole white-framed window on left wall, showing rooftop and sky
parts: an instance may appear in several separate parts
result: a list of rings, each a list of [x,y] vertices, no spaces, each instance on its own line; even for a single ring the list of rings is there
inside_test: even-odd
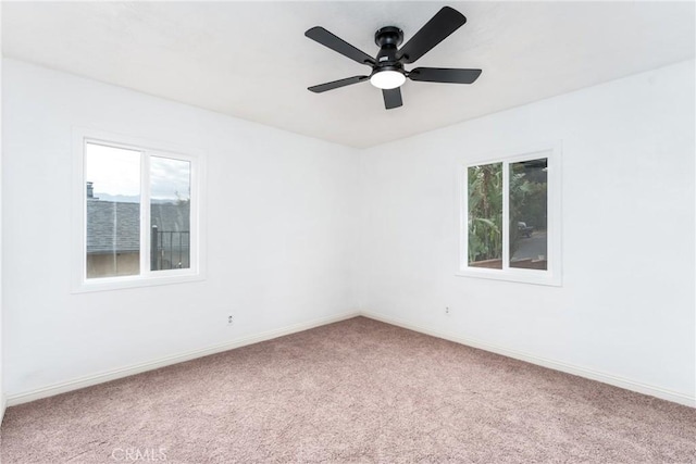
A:
[[[116,137],[80,134],[76,142],[76,290],[201,278],[198,158]]]

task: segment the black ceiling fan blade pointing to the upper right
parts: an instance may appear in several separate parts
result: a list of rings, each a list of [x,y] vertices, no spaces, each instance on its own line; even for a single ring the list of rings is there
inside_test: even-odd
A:
[[[397,59],[403,63],[413,63],[431,51],[433,47],[445,40],[451,33],[464,25],[463,14],[450,7],[444,7],[435,13],[421,29],[403,46]]]

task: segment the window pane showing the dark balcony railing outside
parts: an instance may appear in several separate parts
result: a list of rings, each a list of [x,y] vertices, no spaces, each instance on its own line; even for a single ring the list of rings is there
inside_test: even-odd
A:
[[[150,269],[190,267],[191,165],[150,158]]]

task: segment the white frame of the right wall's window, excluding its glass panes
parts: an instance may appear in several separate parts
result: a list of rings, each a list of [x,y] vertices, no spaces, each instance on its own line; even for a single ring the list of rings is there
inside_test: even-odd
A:
[[[509,188],[511,163],[522,161],[548,160],[547,184],[547,269],[525,269],[510,267],[510,221]],[[502,163],[502,268],[469,266],[469,167],[484,164]],[[457,276],[476,277],[515,283],[548,285],[560,287],[561,277],[561,142],[547,142],[524,149],[506,150],[483,156],[461,160],[457,166],[458,196],[457,212],[459,221],[459,256]]]

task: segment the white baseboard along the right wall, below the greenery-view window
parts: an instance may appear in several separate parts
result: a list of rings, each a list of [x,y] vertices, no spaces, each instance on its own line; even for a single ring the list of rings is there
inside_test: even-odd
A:
[[[549,367],[556,371],[573,374],[579,377],[585,377],[592,380],[601,381],[604,384],[613,385],[626,390],[636,391],[638,393],[649,394],[651,397],[660,398],[662,400],[672,401],[674,403],[684,404],[686,406],[696,407],[696,397],[680,393],[676,391],[667,390],[661,387],[643,384],[639,381],[631,380],[627,378],[619,377],[612,374],[607,374],[599,371],[589,369],[582,366],[564,363],[561,361],[549,360],[546,358],[539,358],[534,354],[524,353],[517,350],[510,350],[502,347],[497,347],[485,341],[475,340],[468,337],[460,337],[455,334],[446,334],[439,330],[434,330],[428,327],[412,324],[408,321],[382,315],[371,311],[361,311],[361,315],[380,321],[386,324],[391,324],[398,327],[407,328],[409,330],[418,331],[433,337],[442,338],[445,340],[453,341],[456,343],[465,344],[481,350],[490,351],[493,353],[502,354],[504,356],[513,358],[515,360],[525,361],[531,364],[536,364],[544,367]]]

